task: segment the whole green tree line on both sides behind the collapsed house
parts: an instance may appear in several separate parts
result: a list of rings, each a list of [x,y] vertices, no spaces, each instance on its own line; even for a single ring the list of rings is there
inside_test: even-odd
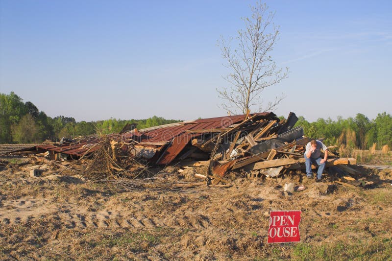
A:
[[[283,117],[280,117],[283,118]],[[153,116],[148,119],[106,119],[76,122],[72,117],[51,118],[30,101],[11,92],[0,94],[0,143],[32,143],[45,140],[58,141],[61,137],[86,136],[95,133],[118,133],[127,123],[137,123],[138,129],[158,126],[180,120],[163,119]],[[306,137],[324,138],[325,144],[368,149],[374,142],[378,146],[392,146],[392,117],[386,112],[379,113],[376,119],[368,119],[363,114],[355,118],[337,120],[318,119],[314,122],[298,117],[295,124],[304,128]]]

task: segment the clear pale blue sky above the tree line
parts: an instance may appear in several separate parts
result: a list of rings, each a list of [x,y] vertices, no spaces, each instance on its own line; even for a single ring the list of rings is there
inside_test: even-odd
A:
[[[217,47],[246,0],[0,0],[0,93],[80,120],[219,117]],[[272,57],[289,78],[263,93],[308,121],[392,114],[392,1],[270,0]]]

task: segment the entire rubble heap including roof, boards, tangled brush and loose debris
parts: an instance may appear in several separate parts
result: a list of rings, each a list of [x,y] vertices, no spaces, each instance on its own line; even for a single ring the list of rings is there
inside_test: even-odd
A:
[[[8,154],[28,155],[30,163],[46,164],[48,174],[75,171],[88,179],[117,180],[133,188],[153,183],[156,187],[177,188],[178,184],[172,184],[167,177],[165,181],[163,171],[151,171],[168,165],[176,166],[171,175],[179,176],[188,173],[184,171],[187,167],[200,168],[193,171],[192,177],[205,181],[179,187],[228,185],[230,181],[225,176],[234,169],[241,169],[248,178],[297,175],[299,181],[304,174],[303,154],[310,139],[304,136],[301,126],[294,127],[296,121],[294,113],[287,120],[280,120],[267,112],[183,121],[142,130],[127,126],[119,134],[63,137],[60,143],[44,142]],[[327,178],[348,187],[367,184],[361,180],[361,171],[355,164],[355,159],[339,158],[329,151]],[[42,167],[31,171],[32,176],[43,174]],[[137,184],[129,183],[135,179]],[[305,189],[294,183],[286,185],[284,191],[289,193]]]

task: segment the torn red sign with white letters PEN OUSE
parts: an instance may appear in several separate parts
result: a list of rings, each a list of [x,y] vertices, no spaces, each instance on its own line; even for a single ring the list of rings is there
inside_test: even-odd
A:
[[[271,211],[267,243],[299,242],[301,211]]]

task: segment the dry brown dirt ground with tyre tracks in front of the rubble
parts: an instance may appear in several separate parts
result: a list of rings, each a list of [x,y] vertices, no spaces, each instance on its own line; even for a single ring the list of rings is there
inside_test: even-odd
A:
[[[350,188],[326,176],[323,193],[301,175],[231,173],[229,188],[132,190],[3,164],[0,260],[391,259],[392,169],[357,169],[373,184]],[[196,171],[166,178],[192,180]],[[289,182],[305,190],[283,193]],[[271,210],[302,211],[301,243],[267,244]]]

